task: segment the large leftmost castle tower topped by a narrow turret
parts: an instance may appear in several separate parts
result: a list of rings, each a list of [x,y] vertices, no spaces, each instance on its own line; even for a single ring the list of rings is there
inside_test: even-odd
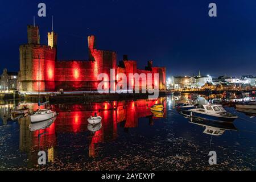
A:
[[[28,44],[19,47],[20,90],[38,91],[40,87],[40,91],[52,91],[55,89],[56,48],[39,44],[38,26],[28,26],[27,33]]]

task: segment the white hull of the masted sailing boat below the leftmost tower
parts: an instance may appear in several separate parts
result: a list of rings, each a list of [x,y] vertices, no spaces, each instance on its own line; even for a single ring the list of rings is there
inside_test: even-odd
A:
[[[30,115],[31,123],[47,121],[56,117],[56,111],[51,109],[39,109]]]

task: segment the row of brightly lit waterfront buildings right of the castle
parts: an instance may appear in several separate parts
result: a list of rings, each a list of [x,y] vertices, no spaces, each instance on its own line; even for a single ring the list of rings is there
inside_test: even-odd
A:
[[[256,76],[244,75],[241,77],[220,76],[213,78],[210,75],[201,76],[172,76],[167,79],[169,89],[236,89],[256,86]]]

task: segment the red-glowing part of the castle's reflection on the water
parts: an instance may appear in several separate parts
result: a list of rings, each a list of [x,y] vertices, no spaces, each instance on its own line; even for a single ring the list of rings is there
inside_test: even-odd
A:
[[[89,156],[96,156],[95,144],[117,138],[118,123],[125,122],[125,128],[138,127],[138,118],[148,117],[150,125],[154,125],[150,107],[162,103],[166,107],[166,100],[136,100],[97,102],[91,104],[55,105],[57,116],[55,122],[47,129],[33,133],[33,146],[38,143],[38,134],[47,131],[40,137],[40,147],[49,148],[56,145],[56,133],[80,133],[88,131],[87,119],[97,113],[102,117],[102,127],[92,134],[89,140]],[[32,106],[36,109],[36,105]],[[166,113],[164,113],[166,117]]]

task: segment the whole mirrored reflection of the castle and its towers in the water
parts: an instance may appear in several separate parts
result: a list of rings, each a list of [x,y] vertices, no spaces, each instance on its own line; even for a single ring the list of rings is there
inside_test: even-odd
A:
[[[37,163],[38,149],[49,151],[48,157],[51,158],[52,161],[52,158],[54,158],[54,154],[56,153],[54,150],[57,143],[56,134],[81,133],[88,131],[87,119],[90,115],[93,115],[96,112],[102,117],[102,126],[100,130],[90,134],[88,153],[90,157],[94,157],[96,156],[95,145],[97,143],[108,142],[117,138],[118,125],[128,132],[129,128],[138,127],[138,119],[142,117],[148,118],[148,123],[154,125],[154,119],[157,119],[157,117],[151,113],[150,107],[160,103],[166,108],[166,98],[158,98],[155,100],[97,102],[81,105],[54,105],[53,107],[55,107],[59,115],[55,122],[47,129],[31,132],[28,127],[30,125],[30,118],[26,117],[19,119],[19,149],[20,151],[28,152],[28,160],[34,164]],[[36,106],[37,105],[35,104],[30,107]],[[163,117],[166,117],[166,111],[164,111]],[[40,137],[39,143],[38,134],[45,132],[47,133]]]

